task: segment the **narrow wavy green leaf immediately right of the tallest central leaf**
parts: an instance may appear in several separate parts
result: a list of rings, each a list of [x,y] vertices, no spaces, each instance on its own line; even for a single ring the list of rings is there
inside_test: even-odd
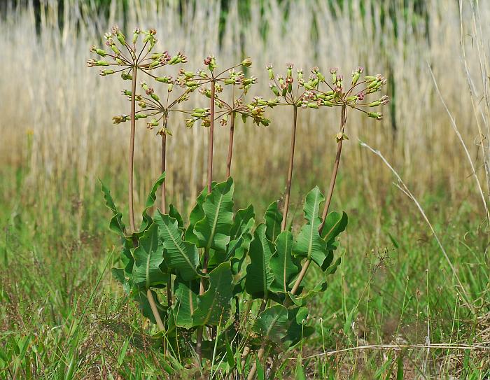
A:
[[[245,253],[250,247],[252,240],[252,229],[255,224],[253,218],[253,206],[237,211],[230,231],[231,241],[228,244],[228,251],[225,260],[232,260],[232,271],[237,274],[240,271],[241,263],[245,258]]]

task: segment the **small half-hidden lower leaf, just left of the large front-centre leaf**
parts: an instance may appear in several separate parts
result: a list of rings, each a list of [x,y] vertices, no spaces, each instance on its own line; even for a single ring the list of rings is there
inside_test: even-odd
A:
[[[177,277],[174,282],[175,304],[172,306],[175,324],[181,328],[193,327],[193,312],[197,308],[199,281],[182,281]]]

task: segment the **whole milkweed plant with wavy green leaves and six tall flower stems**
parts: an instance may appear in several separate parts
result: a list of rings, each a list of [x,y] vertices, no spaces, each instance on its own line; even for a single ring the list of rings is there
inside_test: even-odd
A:
[[[113,118],[115,124],[130,122],[129,225],[101,183],[112,212],[109,228],[121,240],[120,267],[112,273],[155,325],[153,338],[169,376],[183,371],[190,376],[220,372],[225,377],[254,379],[266,358],[277,363],[281,352],[314,331],[307,323],[308,303],[326,290],[328,275],[335,274],[340,263],[335,258],[337,237],[347,225],[346,213],[329,210],[342,143],[348,139],[347,115],[359,111],[381,120],[381,113],[371,110],[388,102],[386,96],[376,97],[386,80],[379,75],[363,76],[360,67],[346,81],[337,69],[324,76],[314,67],[306,78],[301,69],[294,72],[293,64],[287,64],[281,74],[268,65],[272,97],[250,97],[251,86],[258,82],[246,75],[252,66],[250,58],[221,68],[216,57],[209,55],[201,68],[188,69],[183,52],[158,50],[156,34],[155,29],[135,29],[126,36],[113,27],[104,35],[106,46],[92,46],[90,51],[97,57],[87,61],[87,66],[101,69],[101,76],[118,75],[130,84],[122,91],[130,102],[128,111]],[[177,74],[172,76],[171,71]],[[202,105],[186,109],[191,97]],[[374,99],[368,101],[370,97]],[[269,126],[267,111],[274,107],[286,107],[291,120],[286,190],[282,202],[272,202],[265,215],[257,217],[253,205],[234,207],[234,132],[239,120]],[[335,107],[340,108],[339,132],[330,185],[326,197],[318,186],[307,193],[304,223],[293,233],[288,208],[297,121],[306,111]],[[185,115],[182,126],[176,113]],[[161,175],[137,226],[133,199],[139,119],[146,120],[146,127],[161,140]],[[213,177],[216,123],[229,129],[226,176],[218,179]],[[204,127],[208,136],[207,184],[189,215],[183,216],[167,204],[165,171],[169,165],[179,165],[167,162],[167,138],[197,126]],[[303,282],[311,262],[325,274],[315,286]],[[276,367],[272,366],[270,376]]]

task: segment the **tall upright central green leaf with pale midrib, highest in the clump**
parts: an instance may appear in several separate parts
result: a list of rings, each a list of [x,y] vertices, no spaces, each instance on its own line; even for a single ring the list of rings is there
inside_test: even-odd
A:
[[[207,195],[202,204],[204,218],[194,227],[198,247],[226,251],[233,223],[234,190],[233,180],[228,178],[228,181],[218,183]]]

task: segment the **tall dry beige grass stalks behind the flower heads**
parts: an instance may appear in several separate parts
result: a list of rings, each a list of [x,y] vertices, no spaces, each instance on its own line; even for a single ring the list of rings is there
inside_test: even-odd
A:
[[[253,59],[253,74],[261,85],[258,92],[269,96],[267,62],[282,66],[295,62],[309,69],[320,66],[328,71],[339,66],[346,76],[358,64],[369,73],[384,73],[395,83],[391,111],[386,108],[382,123],[374,123],[358,115],[350,115],[344,170],[362,173],[373,193],[383,193],[389,178],[381,163],[360,150],[357,137],[381,148],[404,177],[415,183],[416,191],[428,190],[442,181],[449,195],[461,195],[462,188],[473,185],[471,169],[449,118],[437,97],[427,64],[447,106],[454,115],[469,153],[475,161],[477,174],[484,180],[482,150],[475,113],[482,126],[486,145],[486,102],[482,101],[483,83],[479,53],[488,48],[490,25],[474,24],[470,3],[463,7],[463,35],[468,72],[475,87],[475,109],[461,59],[460,17],[454,2],[433,1],[428,5],[428,19],[408,13],[398,13],[397,24],[389,18],[381,24],[380,15],[386,12],[378,1],[365,6],[367,14],[360,15],[360,3],[354,0],[352,12],[332,10],[324,1],[267,1],[263,13],[255,4],[250,20],[230,7],[223,40],[218,43],[218,1],[196,1],[195,8],[186,8],[182,19],[172,1],[155,8],[151,1],[130,1],[127,26],[155,27],[160,47],[170,51],[182,49],[190,57],[190,68],[202,66],[202,57],[214,52],[225,66],[241,59],[242,52]],[[388,1],[381,2],[386,3]],[[90,194],[96,187],[94,178],[104,174],[125,172],[125,151],[129,128],[111,125],[111,116],[122,113],[128,104],[122,99],[123,83],[117,78],[99,78],[85,67],[88,48],[100,30],[117,22],[122,25],[118,1],[111,6],[109,21],[94,20],[90,8],[79,13],[76,7],[64,8],[64,25],[57,27],[57,12],[48,7],[41,15],[40,33],[36,35],[34,13],[31,9],[13,11],[0,21],[0,113],[2,144],[1,167],[23,165],[31,176],[25,183],[25,194],[49,196],[53,185],[69,188],[73,172],[78,174],[78,195]],[[490,4],[479,4],[480,20],[488,20]],[[312,39],[312,25],[318,25],[318,36]],[[267,31],[262,36],[261,31]],[[481,30],[480,30],[481,29]],[[425,31],[428,31],[426,35]],[[477,40],[477,36],[482,38]],[[482,57],[484,61],[484,57]],[[392,94],[393,95],[393,94]],[[196,102],[202,99],[196,98]],[[238,126],[234,169],[239,178],[269,174],[285,175],[288,134],[278,133],[286,128],[287,115],[273,112],[273,124],[268,128]],[[300,136],[297,154],[297,178],[309,181],[328,174],[323,162],[334,154],[333,135],[338,115],[330,110],[300,112]],[[181,120],[175,120],[174,136],[169,145],[169,192],[179,206],[189,195],[202,188],[205,176],[205,132],[200,127],[187,130]],[[137,175],[139,194],[158,174],[158,139],[141,122],[137,131]],[[227,133],[218,130],[216,139],[218,177],[224,173]],[[30,149],[27,149],[29,145]],[[488,154],[488,149],[484,153]],[[346,174],[347,175],[347,174]],[[237,179],[239,179],[237,178]],[[320,180],[326,182],[326,180]],[[271,182],[274,194],[282,190],[282,179]],[[84,190],[88,190],[85,192]],[[485,189],[486,190],[486,186]],[[471,190],[474,191],[474,190]],[[471,193],[471,195],[474,195]],[[54,202],[53,198],[53,202]],[[80,199],[77,199],[77,201]],[[81,199],[83,200],[83,199]],[[141,200],[141,198],[139,199]],[[49,203],[50,199],[46,199]]]

